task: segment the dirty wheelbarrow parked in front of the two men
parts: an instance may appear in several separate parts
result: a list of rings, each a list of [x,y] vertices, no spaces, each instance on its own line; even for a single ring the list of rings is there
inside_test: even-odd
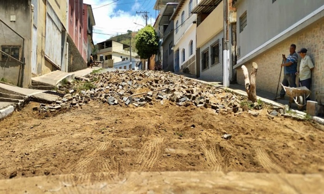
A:
[[[297,104],[298,110],[301,110],[306,105],[306,98],[310,95],[311,91],[306,87],[297,87],[290,88],[281,84],[284,88],[286,94],[290,97],[289,99],[289,107],[293,102]]]

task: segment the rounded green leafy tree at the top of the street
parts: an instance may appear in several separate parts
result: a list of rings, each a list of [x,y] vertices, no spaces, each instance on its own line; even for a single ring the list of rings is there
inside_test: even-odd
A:
[[[156,54],[159,46],[159,38],[151,25],[142,28],[135,37],[135,48],[141,59],[148,59]]]

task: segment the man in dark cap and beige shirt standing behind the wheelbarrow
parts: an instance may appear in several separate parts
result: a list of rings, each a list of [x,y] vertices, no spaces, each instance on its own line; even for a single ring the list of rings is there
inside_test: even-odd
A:
[[[307,49],[302,48],[298,51],[302,60],[300,61],[299,70],[296,75],[299,74],[299,81],[302,86],[305,86],[308,90],[310,90],[310,86],[312,84],[312,70],[314,69],[314,64],[312,59],[307,55]],[[306,100],[310,100],[307,97]]]

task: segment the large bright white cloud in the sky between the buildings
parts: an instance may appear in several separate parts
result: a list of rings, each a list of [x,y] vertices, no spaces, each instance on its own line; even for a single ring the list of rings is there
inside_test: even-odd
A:
[[[84,0],[83,3],[92,5],[93,14],[96,20],[96,26],[94,27],[94,32],[102,34],[93,34],[93,39],[95,44],[109,39],[111,36],[126,33],[127,30],[137,31],[145,26],[145,20],[136,11],[140,11],[140,4],[136,1],[132,6],[130,12],[124,12],[117,8],[119,2],[116,0]],[[110,4],[107,6],[102,6]],[[102,6],[102,7],[100,7]],[[97,8],[99,7],[99,8]],[[148,23],[150,23],[151,18],[148,18]],[[155,19],[152,18],[152,23]],[[136,25],[134,24],[140,24]],[[108,34],[108,35],[103,35]]]

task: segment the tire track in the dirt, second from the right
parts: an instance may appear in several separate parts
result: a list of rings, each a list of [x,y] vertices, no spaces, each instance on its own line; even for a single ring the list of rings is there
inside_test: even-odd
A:
[[[201,148],[203,149],[203,153],[206,157],[206,160],[211,165],[211,171],[221,171],[222,166],[220,165],[218,158],[221,158],[221,154],[219,151],[219,146],[212,146],[210,149],[207,148],[205,142],[201,143]]]

